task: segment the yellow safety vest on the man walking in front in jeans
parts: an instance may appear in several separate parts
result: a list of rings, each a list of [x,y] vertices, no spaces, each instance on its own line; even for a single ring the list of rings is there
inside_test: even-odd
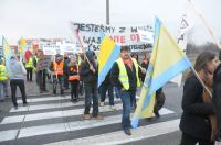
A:
[[[140,87],[140,81],[139,81],[139,76],[138,76],[138,67],[139,66],[138,66],[136,59],[131,58],[131,60],[133,60],[133,64],[135,65],[135,69],[136,69],[137,87]],[[116,62],[117,62],[118,67],[119,67],[118,79],[122,82],[124,89],[128,90],[129,89],[129,78],[128,78],[128,75],[127,75],[127,70],[126,70],[125,64],[124,64],[122,58],[118,58]]]

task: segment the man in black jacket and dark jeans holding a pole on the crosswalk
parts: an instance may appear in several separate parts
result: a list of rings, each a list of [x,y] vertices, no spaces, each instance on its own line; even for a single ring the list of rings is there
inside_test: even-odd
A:
[[[102,120],[103,116],[98,114],[98,89],[97,89],[97,64],[95,62],[95,53],[92,51],[86,52],[87,59],[84,59],[80,65],[80,77],[84,82],[85,89],[85,110],[84,119],[90,120],[91,118]],[[90,114],[91,100],[93,100],[93,111]]]

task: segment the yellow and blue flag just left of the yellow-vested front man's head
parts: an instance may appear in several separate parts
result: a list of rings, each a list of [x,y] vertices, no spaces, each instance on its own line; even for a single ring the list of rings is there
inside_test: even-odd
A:
[[[120,53],[120,47],[108,35],[103,35],[102,40],[98,55],[98,87],[105,80]]]

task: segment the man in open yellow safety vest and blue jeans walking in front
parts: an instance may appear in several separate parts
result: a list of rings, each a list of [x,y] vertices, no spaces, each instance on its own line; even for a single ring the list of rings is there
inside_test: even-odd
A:
[[[130,112],[135,104],[136,90],[140,86],[139,75],[145,74],[146,69],[139,67],[137,60],[130,57],[129,46],[122,46],[120,57],[115,62],[110,78],[113,85],[119,91],[123,102],[122,125],[125,134],[130,132]]]

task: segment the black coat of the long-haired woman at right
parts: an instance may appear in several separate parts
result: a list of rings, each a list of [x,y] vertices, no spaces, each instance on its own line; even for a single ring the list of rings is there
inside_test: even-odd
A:
[[[213,107],[203,103],[202,91],[203,88],[194,76],[186,80],[180,130],[191,136],[210,140],[211,124],[208,116],[213,114]]]

